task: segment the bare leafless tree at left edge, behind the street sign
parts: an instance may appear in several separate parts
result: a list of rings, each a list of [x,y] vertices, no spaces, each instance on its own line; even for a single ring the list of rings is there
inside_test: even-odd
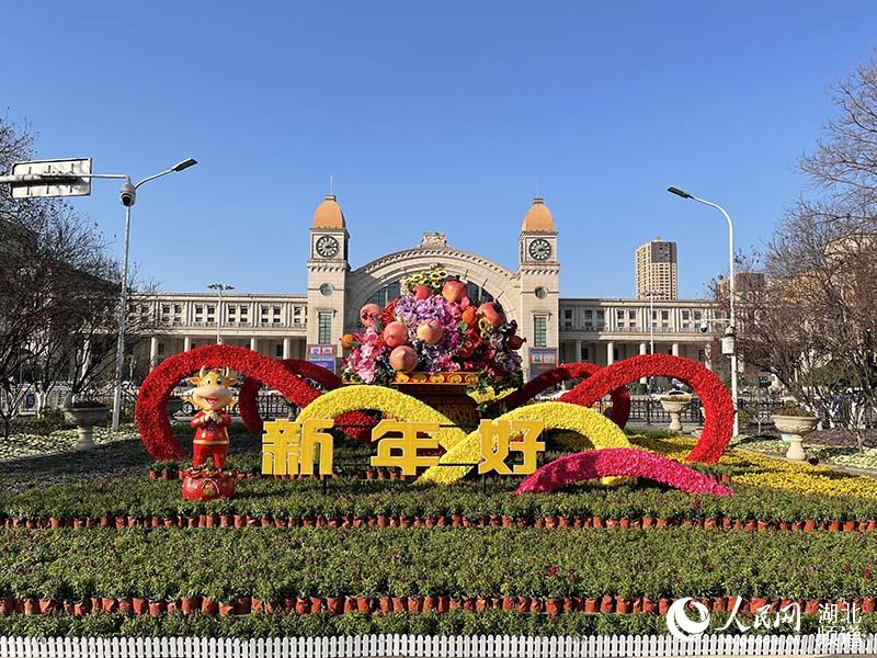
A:
[[[27,127],[0,117],[0,171],[33,156]],[[93,223],[57,200],[0,193],[0,418],[9,434],[27,382],[71,395],[112,378],[121,268]],[[130,282],[129,282],[130,286]],[[134,314],[128,344],[152,315]]]

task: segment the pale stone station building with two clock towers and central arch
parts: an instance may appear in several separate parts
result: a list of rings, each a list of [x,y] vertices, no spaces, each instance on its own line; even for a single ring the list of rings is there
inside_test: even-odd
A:
[[[709,366],[707,334],[699,322],[714,317],[709,302],[653,303],[648,299],[562,298],[557,260],[558,232],[542,198],[533,202],[519,235],[516,271],[478,253],[452,247],[444,234],[426,232],[420,245],[377,258],[360,268],[349,262],[350,235],[334,196],[315,213],[306,263],[307,292],[300,295],[223,296],[221,337],[272,358],[305,359],[307,345],[339,345],[341,336],[358,329],[360,308],[369,300],[397,296],[402,279],[435,265],[469,284],[472,295],[500,303],[519,333],[527,338],[522,356],[548,367],[588,361],[606,365],[654,352],[687,356]],[[134,313],[155,314],[167,330],[138,347],[135,359],[155,366],[193,347],[216,342],[219,304],[210,293],[160,293],[132,305]],[[653,340],[652,340],[653,339]],[[536,352],[531,354],[531,350]],[[340,355],[340,348],[338,348]],[[547,355],[546,355],[547,354]],[[534,367],[534,372],[538,370]]]

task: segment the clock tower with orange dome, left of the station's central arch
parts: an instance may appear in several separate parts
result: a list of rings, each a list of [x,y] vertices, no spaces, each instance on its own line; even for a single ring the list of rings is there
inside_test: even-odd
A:
[[[334,194],[327,194],[314,213],[308,254],[308,344],[335,345],[344,332],[348,234],[344,213]]]

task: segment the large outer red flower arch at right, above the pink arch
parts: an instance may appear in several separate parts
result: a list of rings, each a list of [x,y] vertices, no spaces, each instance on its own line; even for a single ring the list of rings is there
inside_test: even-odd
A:
[[[643,354],[625,359],[601,368],[561,397],[560,401],[590,407],[610,390],[649,376],[675,377],[691,386],[701,398],[706,415],[704,431],[685,458],[705,464],[718,462],[733,432],[733,402],[721,379],[691,359],[669,354]]]

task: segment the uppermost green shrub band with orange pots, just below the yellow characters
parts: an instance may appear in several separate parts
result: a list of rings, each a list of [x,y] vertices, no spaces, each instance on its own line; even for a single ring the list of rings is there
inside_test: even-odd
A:
[[[236,498],[187,501],[180,484],[129,476],[73,480],[0,491],[5,525],[706,525],[749,523],[751,530],[829,527],[875,530],[877,501],[802,495],[734,485],[736,496],[691,496],[656,486],[604,488],[580,485],[556,494],[513,494],[514,483],[494,479],[421,487],[401,481],[337,478],[251,479],[238,484]],[[54,520],[54,522],[53,522]],[[117,521],[118,520],[118,521]],[[762,523],[759,524],[758,522]],[[611,523],[616,522],[616,523]]]

